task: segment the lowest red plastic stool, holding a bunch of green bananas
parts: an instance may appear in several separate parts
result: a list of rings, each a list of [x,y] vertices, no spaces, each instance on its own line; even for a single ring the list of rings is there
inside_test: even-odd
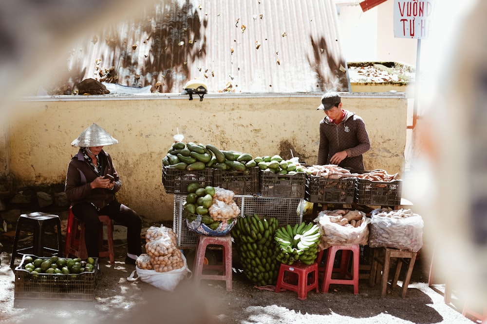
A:
[[[297,285],[284,281],[284,273],[286,272],[298,275]],[[311,278],[308,278],[310,274]],[[312,280],[311,283],[309,283],[309,279]],[[310,265],[300,262],[293,263],[292,265],[281,263],[277,277],[276,292],[281,290],[296,291],[298,293],[298,299],[305,300],[308,298],[308,291],[313,289],[316,289],[316,292],[318,292],[318,263],[315,262]]]

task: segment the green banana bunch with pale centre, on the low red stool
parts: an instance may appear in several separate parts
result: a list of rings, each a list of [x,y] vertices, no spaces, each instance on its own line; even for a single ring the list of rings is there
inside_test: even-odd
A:
[[[295,261],[313,264],[318,256],[318,244],[321,233],[317,224],[301,222],[291,226],[287,224],[276,230],[276,259],[288,265]]]

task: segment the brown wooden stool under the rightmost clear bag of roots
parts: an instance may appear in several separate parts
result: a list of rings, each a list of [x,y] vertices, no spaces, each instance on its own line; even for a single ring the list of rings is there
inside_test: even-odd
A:
[[[380,251],[385,251],[384,256],[379,256]],[[382,276],[381,276],[381,292],[380,296],[386,296],[387,290],[387,281],[389,279],[389,268],[391,267],[391,258],[397,258],[397,266],[394,273],[394,279],[392,282],[392,287],[397,285],[397,280],[399,279],[399,274],[401,273],[402,263],[409,263],[408,272],[406,273],[406,278],[402,284],[402,292],[401,297],[406,297],[406,292],[408,290],[409,281],[411,280],[412,269],[414,267],[414,261],[416,261],[416,253],[411,252],[408,250],[398,250],[394,248],[375,248],[374,249],[374,257],[372,259],[372,269],[370,273],[369,283],[372,287],[374,287],[375,282],[379,277],[379,272],[377,272],[377,265],[380,264],[382,269]],[[405,259],[410,259],[409,261]]]

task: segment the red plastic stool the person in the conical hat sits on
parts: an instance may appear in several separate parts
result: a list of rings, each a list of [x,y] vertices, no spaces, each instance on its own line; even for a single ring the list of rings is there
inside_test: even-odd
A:
[[[98,216],[98,219],[102,224],[107,226],[107,245],[104,245],[105,240],[103,231],[100,231],[100,249],[98,252],[99,257],[109,257],[110,264],[115,263],[115,257],[113,254],[113,222],[110,217],[106,215]],[[73,255],[81,259],[86,259],[88,253],[86,252],[85,244],[85,226],[83,222],[75,218],[75,215],[69,208],[68,224],[66,228],[66,244],[64,246],[64,255],[69,257]]]

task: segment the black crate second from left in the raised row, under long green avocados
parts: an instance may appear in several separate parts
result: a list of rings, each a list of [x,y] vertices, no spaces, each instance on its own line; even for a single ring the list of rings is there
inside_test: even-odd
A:
[[[236,195],[252,195],[259,192],[259,168],[245,171],[213,170],[213,187],[232,190]]]

